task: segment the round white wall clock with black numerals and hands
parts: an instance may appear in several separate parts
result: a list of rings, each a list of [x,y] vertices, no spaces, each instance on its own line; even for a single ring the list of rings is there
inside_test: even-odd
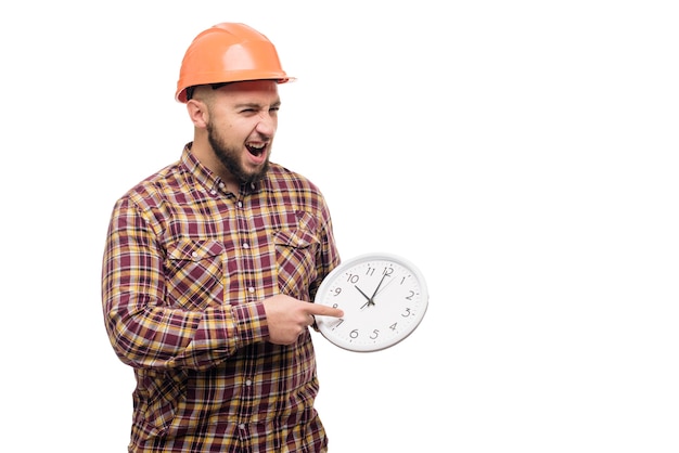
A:
[[[342,262],[321,283],[316,303],[336,307],[343,318],[316,316],[321,334],[350,351],[377,351],[410,335],[428,302],[420,270],[392,254],[367,254]]]

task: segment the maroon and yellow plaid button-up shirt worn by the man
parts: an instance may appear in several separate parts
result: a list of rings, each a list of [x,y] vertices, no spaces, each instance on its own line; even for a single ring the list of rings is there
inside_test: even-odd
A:
[[[190,148],[108,228],[104,321],[137,378],[129,451],[323,452],[311,335],[268,342],[261,300],[311,301],[340,262],[325,202],[277,164],[227,193]]]

